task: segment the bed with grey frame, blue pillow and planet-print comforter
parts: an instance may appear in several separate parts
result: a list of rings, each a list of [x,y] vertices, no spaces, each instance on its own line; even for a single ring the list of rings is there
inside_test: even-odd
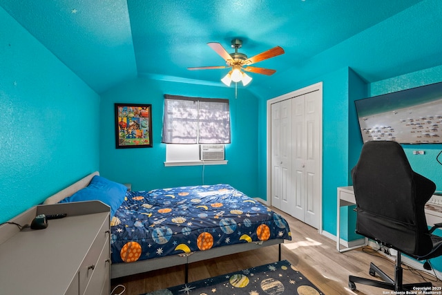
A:
[[[229,184],[128,191],[95,172],[44,204],[84,200],[77,195],[88,189],[111,207],[111,278],[184,265],[187,282],[189,263],[271,245],[280,260],[291,240],[282,216]]]

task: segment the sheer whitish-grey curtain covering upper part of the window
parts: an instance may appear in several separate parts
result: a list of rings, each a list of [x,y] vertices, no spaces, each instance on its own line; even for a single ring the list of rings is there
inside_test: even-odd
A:
[[[229,99],[164,95],[162,142],[229,144]]]

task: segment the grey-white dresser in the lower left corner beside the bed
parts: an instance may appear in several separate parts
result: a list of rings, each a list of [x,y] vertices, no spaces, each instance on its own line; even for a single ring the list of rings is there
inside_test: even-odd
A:
[[[0,226],[0,293],[110,294],[109,207],[98,201],[39,205],[10,220],[67,213],[46,229]]]

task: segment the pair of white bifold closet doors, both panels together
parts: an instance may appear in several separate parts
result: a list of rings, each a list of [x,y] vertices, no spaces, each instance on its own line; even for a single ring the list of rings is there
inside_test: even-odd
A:
[[[267,200],[322,231],[322,83],[269,99],[267,126]]]

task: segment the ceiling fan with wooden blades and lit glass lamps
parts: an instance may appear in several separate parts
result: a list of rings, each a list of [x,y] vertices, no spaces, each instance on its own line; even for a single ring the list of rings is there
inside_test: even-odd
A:
[[[217,68],[232,68],[229,73],[221,79],[221,81],[227,86],[230,86],[232,81],[241,81],[242,85],[244,86],[251,82],[251,77],[241,70],[268,76],[273,75],[276,70],[271,70],[269,68],[257,68],[256,66],[250,65],[257,63],[258,61],[263,61],[265,59],[284,54],[284,49],[282,49],[280,46],[276,46],[267,51],[264,51],[263,53],[247,58],[247,55],[244,55],[244,53],[238,53],[238,48],[242,47],[242,41],[240,39],[233,39],[231,41],[231,47],[235,48],[235,53],[228,53],[227,50],[225,50],[224,47],[222,47],[222,45],[217,42],[210,42],[207,45],[215,50],[215,53],[218,53],[218,55],[220,55],[220,57],[222,57],[226,61],[227,66],[200,66],[187,69],[211,70]]]

